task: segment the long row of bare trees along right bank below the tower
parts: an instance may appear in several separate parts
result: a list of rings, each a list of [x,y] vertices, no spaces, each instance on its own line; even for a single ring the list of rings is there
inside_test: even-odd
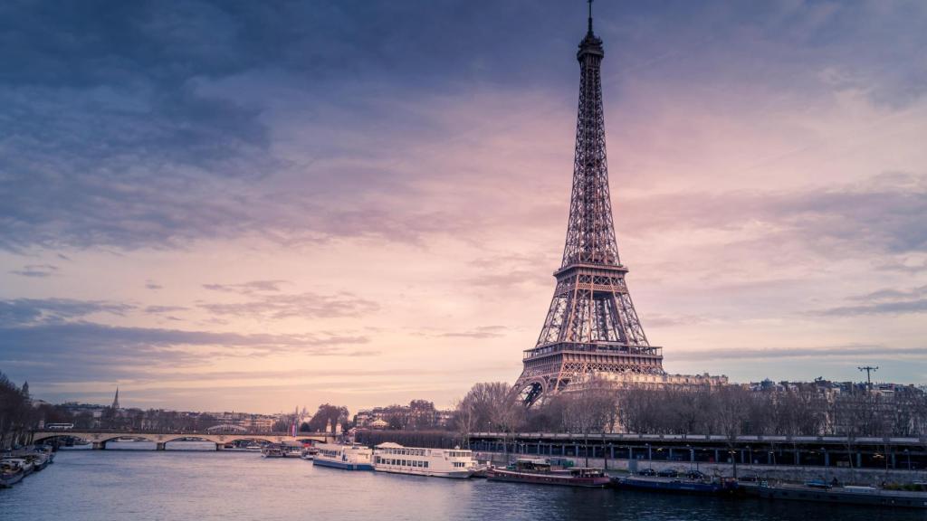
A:
[[[921,437],[927,395],[896,388],[828,393],[814,384],[785,390],[742,386],[614,388],[590,381],[526,409],[502,382],[476,384],[457,404],[455,426],[473,432],[706,434],[733,436]]]

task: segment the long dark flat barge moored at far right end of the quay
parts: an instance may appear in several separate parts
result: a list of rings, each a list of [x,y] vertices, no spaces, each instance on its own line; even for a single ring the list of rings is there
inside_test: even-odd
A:
[[[769,485],[762,482],[756,494],[770,500],[927,509],[927,492],[885,490],[875,487],[832,487],[818,482],[805,485]]]

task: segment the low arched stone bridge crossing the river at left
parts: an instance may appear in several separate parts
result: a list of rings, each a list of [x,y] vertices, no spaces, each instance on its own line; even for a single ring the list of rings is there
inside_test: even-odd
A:
[[[107,442],[118,438],[133,438],[141,441],[150,441],[155,444],[155,449],[163,451],[165,444],[171,441],[182,439],[196,441],[211,441],[216,444],[216,451],[221,451],[226,443],[232,443],[238,440],[266,441],[270,443],[283,443],[286,441],[312,441],[328,442],[334,441],[335,435],[324,432],[306,432],[298,433],[297,436],[290,436],[288,433],[211,433],[211,432],[160,432],[147,430],[37,430],[32,433],[32,442],[39,443],[47,439],[54,438],[80,438],[90,441],[94,444],[95,450],[103,450],[107,447]]]

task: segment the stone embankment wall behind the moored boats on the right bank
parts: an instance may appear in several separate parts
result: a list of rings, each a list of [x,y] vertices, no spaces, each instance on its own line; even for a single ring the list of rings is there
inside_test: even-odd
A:
[[[476,459],[480,462],[491,462],[492,464],[502,465],[513,462],[516,458],[547,458],[548,456],[530,456],[524,454],[503,454],[502,452],[476,452]],[[553,456],[560,458],[560,456]],[[562,457],[570,460],[577,466],[585,466],[586,458]],[[508,461],[506,461],[508,460]],[[636,465],[635,465],[636,464]],[[607,467],[609,472],[624,473],[629,471],[629,466],[636,466],[637,470],[644,468],[653,468],[656,471],[665,468],[675,468],[679,471],[687,471],[690,465],[686,462],[648,462],[647,460],[637,460],[629,462],[628,460],[602,458],[590,458],[589,466]],[[695,468],[694,466],[692,468]],[[697,465],[698,470],[708,476],[733,476],[733,467],[731,464],[705,464]],[[851,469],[845,467],[822,467],[822,466],[789,466],[789,465],[756,465],[756,464],[737,464],[738,477],[759,476],[761,479],[769,481],[792,481],[805,482],[812,479],[823,479],[830,482],[834,477],[845,485],[879,485],[884,483],[913,483],[915,481],[927,482],[927,471],[925,470],[884,470],[884,469]]]

